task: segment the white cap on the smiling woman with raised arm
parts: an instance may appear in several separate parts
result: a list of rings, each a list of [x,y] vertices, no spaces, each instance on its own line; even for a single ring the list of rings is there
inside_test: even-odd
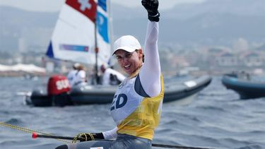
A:
[[[114,52],[112,55],[118,49],[123,49],[126,52],[134,52],[136,49],[141,49],[141,44],[134,36],[124,35],[114,42]]]

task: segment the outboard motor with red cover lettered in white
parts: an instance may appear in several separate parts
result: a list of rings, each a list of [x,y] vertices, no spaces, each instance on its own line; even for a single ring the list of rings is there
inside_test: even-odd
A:
[[[49,78],[47,93],[55,106],[72,105],[69,90],[70,84],[66,76],[54,75]]]

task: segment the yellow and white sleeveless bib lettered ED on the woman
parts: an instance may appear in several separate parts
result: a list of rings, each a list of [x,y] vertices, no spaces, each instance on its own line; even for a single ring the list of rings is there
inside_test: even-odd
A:
[[[161,76],[161,92],[156,97],[143,97],[134,89],[136,77],[126,79],[114,95],[111,114],[117,123],[117,133],[153,139],[153,133],[160,121],[164,87]]]

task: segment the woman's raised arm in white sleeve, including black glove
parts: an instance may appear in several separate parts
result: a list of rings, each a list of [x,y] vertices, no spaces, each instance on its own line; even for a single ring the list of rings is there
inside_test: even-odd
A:
[[[146,42],[144,49],[144,64],[141,68],[139,77],[143,90],[154,97],[160,93],[160,59],[158,54],[158,0],[142,0],[143,6],[148,12],[148,25],[146,30]]]

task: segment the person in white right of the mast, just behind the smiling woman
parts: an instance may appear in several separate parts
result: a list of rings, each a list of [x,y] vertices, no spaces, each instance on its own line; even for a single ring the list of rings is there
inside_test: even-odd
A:
[[[119,71],[115,71],[112,68],[106,66],[107,64],[102,64],[100,70],[102,71],[102,85],[119,85],[126,78]]]

